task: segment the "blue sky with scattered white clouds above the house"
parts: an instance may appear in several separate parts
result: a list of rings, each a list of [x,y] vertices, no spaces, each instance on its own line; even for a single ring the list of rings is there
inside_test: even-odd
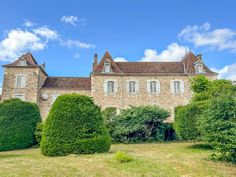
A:
[[[179,61],[191,49],[236,80],[235,7],[234,0],[1,0],[0,64],[31,51],[50,76],[88,76],[94,53],[106,49],[128,61]],[[1,68],[0,82],[2,75]]]

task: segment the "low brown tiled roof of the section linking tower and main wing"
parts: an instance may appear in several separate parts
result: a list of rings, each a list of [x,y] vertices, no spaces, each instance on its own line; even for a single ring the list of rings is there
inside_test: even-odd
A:
[[[89,77],[48,77],[43,87],[90,90],[91,83]]]

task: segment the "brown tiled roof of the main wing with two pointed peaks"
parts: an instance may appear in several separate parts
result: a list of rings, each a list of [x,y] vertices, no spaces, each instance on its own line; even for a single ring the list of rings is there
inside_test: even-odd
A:
[[[102,74],[102,69],[105,60],[111,62],[112,73],[109,74],[195,74],[194,63],[199,60],[192,52],[188,52],[182,61],[179,62],[114,62],[110,53],[106,52],[98,66],[94,69],[94,74]],[[206,74],[216,75],[217,73],[211,71],[204,65]]]

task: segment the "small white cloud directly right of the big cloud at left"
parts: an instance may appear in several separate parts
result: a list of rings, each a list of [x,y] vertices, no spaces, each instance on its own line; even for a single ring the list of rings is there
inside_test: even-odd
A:
[[[57,39],[59,37],[57,31],[49,29],[46,26],[36,28],[33,32],[41,37],[45,37],[46,39]]]

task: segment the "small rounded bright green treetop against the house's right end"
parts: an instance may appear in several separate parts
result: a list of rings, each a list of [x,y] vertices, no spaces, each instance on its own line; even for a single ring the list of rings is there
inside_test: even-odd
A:
[[[191,89],[195,93],[207,91],[210,86],[210,81],[202,75],[196,76],[191,80]]]

